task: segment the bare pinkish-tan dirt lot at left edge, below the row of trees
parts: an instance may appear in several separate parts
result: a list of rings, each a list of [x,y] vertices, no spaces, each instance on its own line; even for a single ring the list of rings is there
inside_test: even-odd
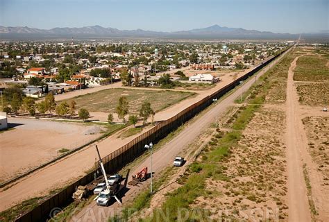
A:
[[[1,182],[99,137],[99,126],[9,118],[12,130],[0,133]]]

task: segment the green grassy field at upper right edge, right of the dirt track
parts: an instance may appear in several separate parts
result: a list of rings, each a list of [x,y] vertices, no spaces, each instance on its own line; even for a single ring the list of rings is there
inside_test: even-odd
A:
[[[328,58],[325,56],[307,55],[298,58],[294,71],[295,81],[329,81]]]

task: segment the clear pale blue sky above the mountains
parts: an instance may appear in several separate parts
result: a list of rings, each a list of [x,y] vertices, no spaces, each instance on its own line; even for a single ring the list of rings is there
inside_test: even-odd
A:
[[[0,25],[182,31],[218,24],[280,33],[328,30],[329,0],[0,0]]]

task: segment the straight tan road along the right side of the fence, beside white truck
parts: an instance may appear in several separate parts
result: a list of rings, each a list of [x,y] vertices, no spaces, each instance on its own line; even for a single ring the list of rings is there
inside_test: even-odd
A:
[[[278,60],[274,61],[274,63],[276,63],[277,61]],[[262,74],[264,74],[264,72],[267,71],[272,65],[273,62],[271,62],[271,64],[267,67],[265,67],[264,71],[260,71],[256,78],[251,78],[250,80],[246,81],[242,85],[242,87],[233,92],[233,94],[230,94],[230,96],[226,97],[226,99],[223,99],[222,101],[218,102],[216,105],[214,105],[212,109],[208,110],[208,112],[203,114],[202,117],[196,117],[196,121],[187,124],[187,126],[185,126],[182,132],[174,139],[172,139],[171,142],[163,146],[160,150],[156,151],[153,154],[153,172],[156,174],[157,172],[160,172],[162,169],[165,169],[165,167],[171,164],[174,160],[174,157],[178,155],[184,147],[189,146],[189,144],[194,140],[194,138],[198,137],[201,133],[203,133],[204,130],[206,130],[210,126],[210,123],[214,122],[216,114],[223,114],[228,107],[233,105],[235,99],[237,99],[241,94],[246,92],[246,90],[248,90],[248,88],[251,87],[253,83],[255,83],[255,80],[257,80],[258,77],[262,76]],[[143,167],[148,167],[150,169],[149,157],[146,158],[146,160],[144,160],[142,164],[139,164],[138,166],[134,167],[134,169],[130,171],[130,175],[135,175],[135,173],[137,173],[137,171],[139,171]],[[131,180],[131,178],[129,178],[129,180]],[[146,182],[149,182],[149,180],[147,180]],[[138,187],[133,186],[130,186],[128,188],[128,192],[125,194],[124,197],[122,197],[123,203],[125,203],[125,201],[129,198],[130,194],[133,194],[138,189]],[[115,212],[118,212],[120,209],[121,207],[118,203],[114,203],[110,207],[99,207],[96,205],[96,201],[93,201],[92,203],[90,203],[90,205],[84,207],[81,212],[76,214],[71,219],[71,221],[107,221],[109,216],[114,215]]]

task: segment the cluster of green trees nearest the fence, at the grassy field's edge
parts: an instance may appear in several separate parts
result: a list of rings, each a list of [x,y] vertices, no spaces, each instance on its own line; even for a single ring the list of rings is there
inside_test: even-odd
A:
[[[140,117],[142,117],[144,125],[146,124],[147,119],[149,119],[149,117],[152,117],[152,122],[153,122],[155,112],[151,108],[151,103],[145,101],[144,103],[142,103],[139,111],[140,111]],[[117,108],[115,108],[115,112],[117,113],[119,119],[122,119],[124,122],[126,121],[125,117],[129,112],[129,103],[126,96],[121,96],[119,98],[119,103],[117,105]],[[113,121],[113,114],[110,113],[108,114],[108,122],[111,123],[112,121]],[[137,121],[138,121],[137,115],[129,115],[128,117],[129,123],[136,126]]]

